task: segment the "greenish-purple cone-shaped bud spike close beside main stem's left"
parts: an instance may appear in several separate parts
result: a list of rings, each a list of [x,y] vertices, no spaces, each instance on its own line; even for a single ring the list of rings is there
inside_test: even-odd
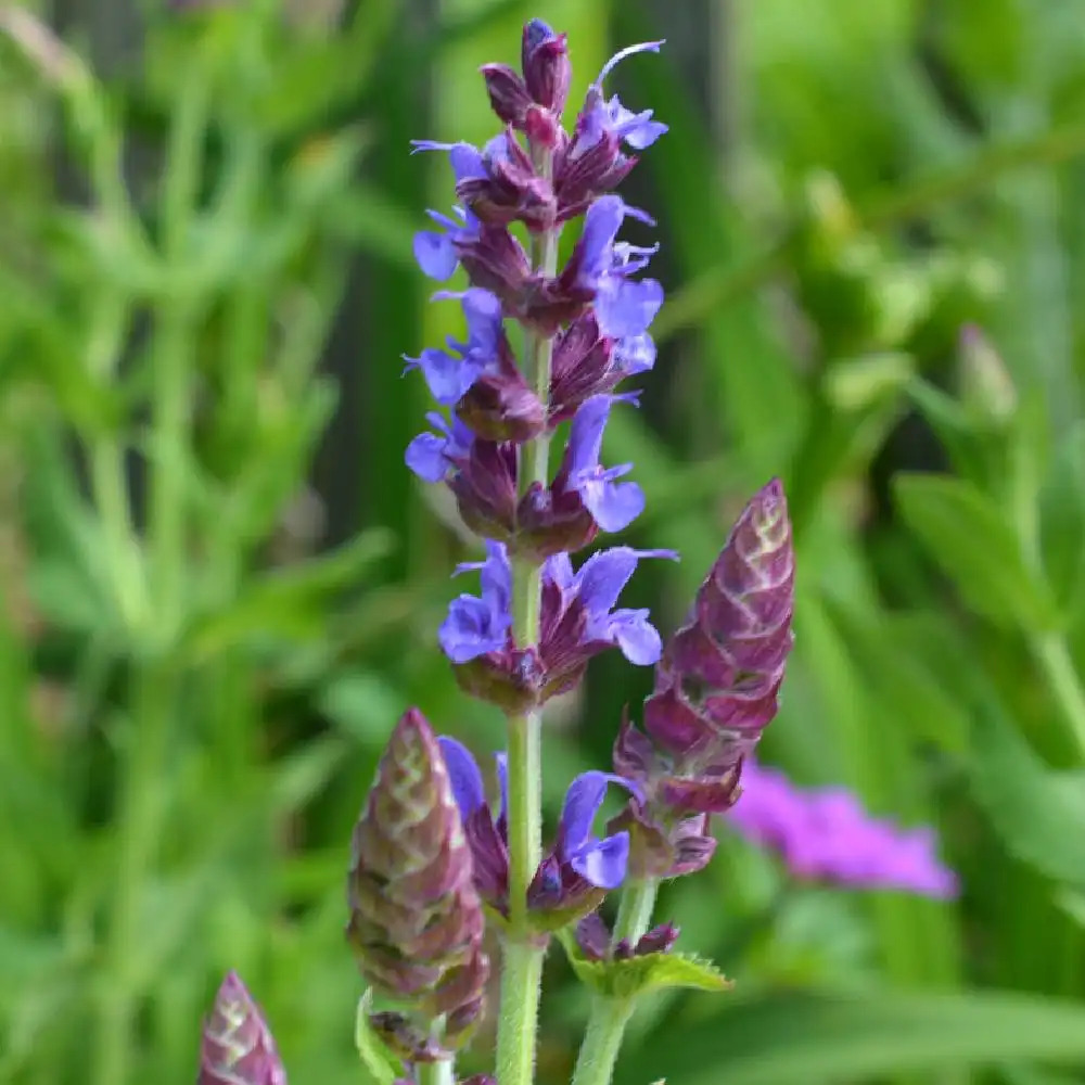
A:
[[[447,1058],[483,1011],[483,911],[441,746],[411,709],[396,725],[355,827],[347,937],[373,990],[401,1012],[374,1027],[412,1062]]]

